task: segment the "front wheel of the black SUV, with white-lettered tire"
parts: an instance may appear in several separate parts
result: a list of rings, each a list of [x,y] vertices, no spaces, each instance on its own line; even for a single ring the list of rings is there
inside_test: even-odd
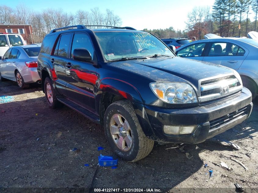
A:
[[[117,101],[108,106],[104,129],[111,150],[128,162],[143,159],[153,148],[154,141],[143,133],[133,105],[128,100]]]

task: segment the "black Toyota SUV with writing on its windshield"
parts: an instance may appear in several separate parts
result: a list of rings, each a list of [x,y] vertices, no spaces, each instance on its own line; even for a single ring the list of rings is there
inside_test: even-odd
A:
[[[236,71],[176,57],[131,27],[54,29],[38,73],[50,108],[63,103],[104,126],[113,152],[130,162],[154,141],[203,142],[247,119],[253,106]]]

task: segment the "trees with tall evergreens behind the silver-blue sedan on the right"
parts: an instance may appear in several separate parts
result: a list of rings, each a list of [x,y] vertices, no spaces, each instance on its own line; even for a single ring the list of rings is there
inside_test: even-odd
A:
[[[212,12],[209,10],[209,7],[195,7],[188,13],[184,33],[202,39],[207,33],[230,37],[247,36],[249,31],[258,30],[258,0],[215,0]]]

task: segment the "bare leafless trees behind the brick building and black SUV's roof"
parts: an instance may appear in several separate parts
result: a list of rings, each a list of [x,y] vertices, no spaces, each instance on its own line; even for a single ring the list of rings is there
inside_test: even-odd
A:
[[[110,9],[107,9],[105,13],[102,13],[97,7],[89,11],[77,10],[76,13],[67,13],[62,9],[45,9],[42,12],[35,12],[21,4],[14,9],[2,5],[0,7],[0,23],[30,24],[33,34],[28,37],[28,40],[37,43],[42,42],[45,35],[55,28],[78,24],[121,26],[122,20]]]

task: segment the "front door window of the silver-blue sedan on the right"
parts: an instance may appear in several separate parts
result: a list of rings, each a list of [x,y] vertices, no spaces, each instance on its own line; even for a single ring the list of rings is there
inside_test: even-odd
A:
[[[205,43],[192,44],[192,45],[189,45],[186,48],[178,51],[177,56],[180,56],[180,57],[202,56],[204,47],[205,47]]]

